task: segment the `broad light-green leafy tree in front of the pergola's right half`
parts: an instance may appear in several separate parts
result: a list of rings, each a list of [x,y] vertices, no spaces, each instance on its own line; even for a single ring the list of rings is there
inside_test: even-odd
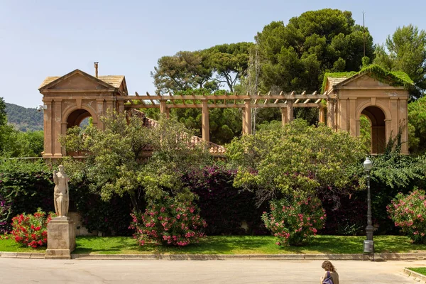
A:
[[[366,155],[359,138],[327,126],[270,124],[256,136],[235,138],[226,151],[239,167],[234,185],[257,188],[259,202],[292,195],[322,192],[333,195],[356,187],[361,160]]]

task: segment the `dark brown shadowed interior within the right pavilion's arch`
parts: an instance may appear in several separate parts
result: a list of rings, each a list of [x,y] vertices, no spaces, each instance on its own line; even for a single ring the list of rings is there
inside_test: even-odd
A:
[[[371,124],[371,153],[383,153],[386,147],[385,113],[378,107],[366,107],[361,115],[368,118]]]

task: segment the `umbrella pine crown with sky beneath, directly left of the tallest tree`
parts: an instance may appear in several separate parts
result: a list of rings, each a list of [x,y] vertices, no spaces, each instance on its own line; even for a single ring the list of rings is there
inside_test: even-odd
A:
[[[252,45],[253,43],[231,43],[203,50],[207,54],[209,67],[217,73],[217,82],[226,83],[230,92],[234,92],[236,83],[246,73]]]

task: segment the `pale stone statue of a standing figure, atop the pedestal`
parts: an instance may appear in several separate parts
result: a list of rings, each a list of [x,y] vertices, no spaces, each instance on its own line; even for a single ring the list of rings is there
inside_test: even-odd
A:
[[[58,217],[65,217],[68,214],[70,204],[68,195],[68,176],[64,172],[64,166],[59,165],[59,172],[53,170],[53,182],[55,182],[55,191],[53,201],[55,202],[55,213]]]

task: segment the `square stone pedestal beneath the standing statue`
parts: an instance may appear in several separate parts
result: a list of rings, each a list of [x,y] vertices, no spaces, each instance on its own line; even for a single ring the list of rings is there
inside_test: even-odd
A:
[[[75,224],[70,217],[55,217],[48,224],[45,258],[70,259],[75,249]]]

